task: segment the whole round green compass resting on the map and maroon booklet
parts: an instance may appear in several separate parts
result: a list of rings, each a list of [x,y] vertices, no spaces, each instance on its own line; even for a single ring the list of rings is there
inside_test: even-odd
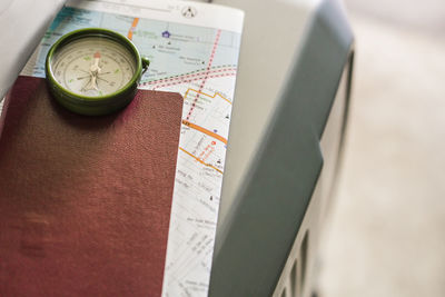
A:
[[[88,28],[62,36],[49,50],[46,75],[55,99],[87,116],[107,115],[135,97],[149,61],[126,37]]]

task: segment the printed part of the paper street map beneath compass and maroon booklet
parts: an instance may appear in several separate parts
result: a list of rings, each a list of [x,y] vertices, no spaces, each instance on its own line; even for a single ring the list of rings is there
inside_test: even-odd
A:
[[[140,88],[184,97],[164,296],[207,296],[240,33],[66,7],[34,55],[32,75],[44,77],[58,38],[87,27],[127,36],[151,61]]]

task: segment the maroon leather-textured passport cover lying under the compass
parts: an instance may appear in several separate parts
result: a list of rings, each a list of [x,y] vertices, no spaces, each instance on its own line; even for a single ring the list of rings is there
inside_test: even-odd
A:
[[[71,113],[20,77],[0,138],[0,296],[160,296],[182,98]]]

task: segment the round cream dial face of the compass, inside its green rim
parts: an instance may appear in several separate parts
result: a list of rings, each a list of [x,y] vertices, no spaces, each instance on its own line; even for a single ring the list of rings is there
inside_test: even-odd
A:
[[[135,76],[135,56],[105,37],[87,36],[60,47],[50,72],[65,89],[82,97],[102,97],[122,89]]]

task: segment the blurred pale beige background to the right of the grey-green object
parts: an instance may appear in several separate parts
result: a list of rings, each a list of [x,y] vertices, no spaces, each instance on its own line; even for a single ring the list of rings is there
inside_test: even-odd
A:
[[[320,296],[445,296],[445,1],[346,0],[355,82]]]

